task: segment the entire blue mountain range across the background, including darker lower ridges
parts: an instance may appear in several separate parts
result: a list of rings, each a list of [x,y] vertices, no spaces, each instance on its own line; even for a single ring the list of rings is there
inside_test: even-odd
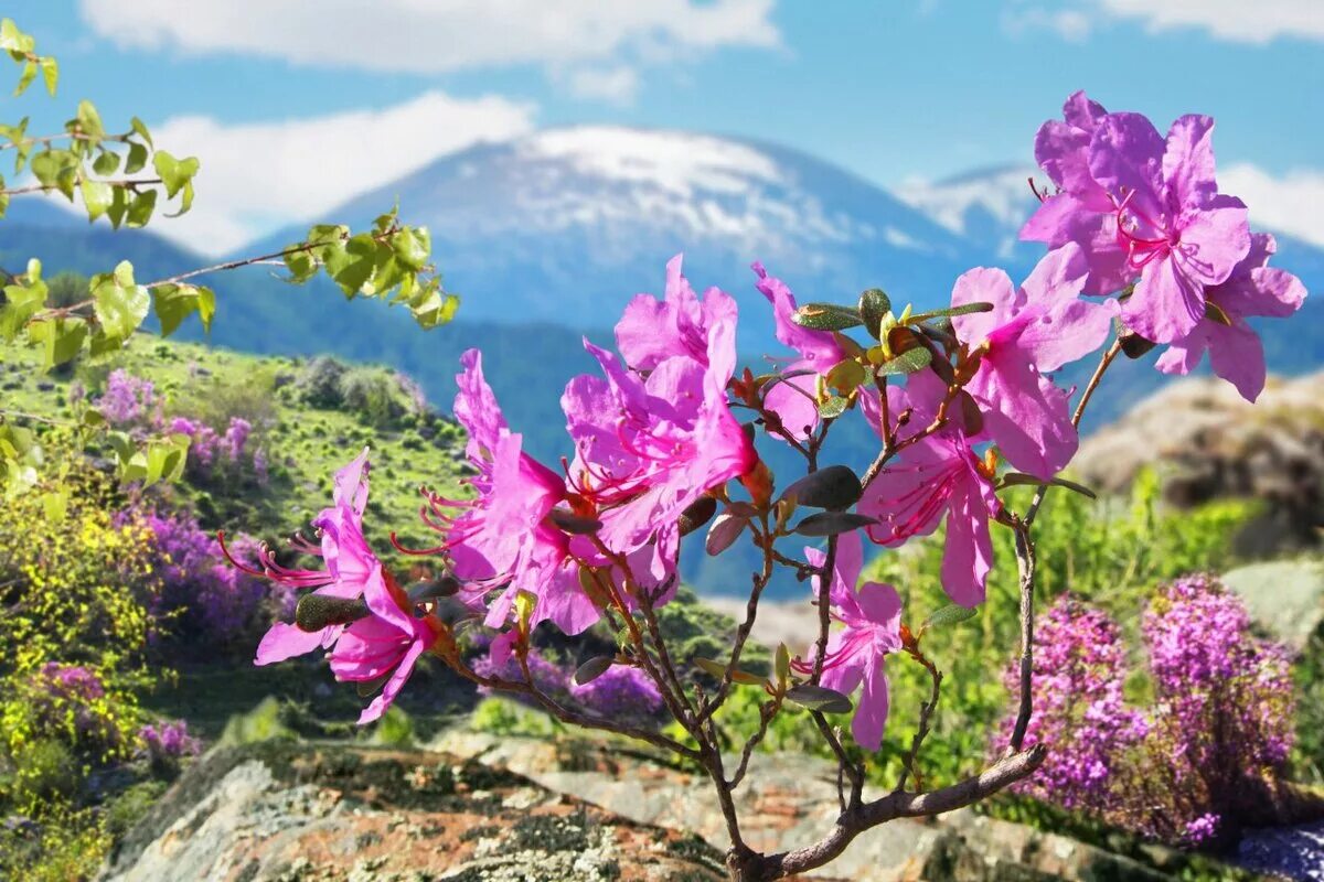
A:
[[[538,456],[555,463],[569,454],[560,394],[571,376],[593,369],[581,337],[610,344],[630,296],[662,294],[663,267],[674,254],[685,253],[696,288],[719,286],[737,299],[741,353],[756,361],[768,350],[785,353],[772,340],[771,309],[753,287],[751,261],[785,278],[801,301],[850,301],[866,287],[883,287],[895,303],[944,304],[956,276],[970,267],[1001,266],[1019,280],[1042,257],[1042,246],[1017,238],[1035,205],[1026,184],[1031,173],[997,167],[892,194],[771,144],[621,127],[548,130],[440,159],[238,254],[297,242],[312,222],[365,227],[399,198],[402,217],[432,229],[446,287],[462,295],[453,324],[422,333],[399,308],[348,303],[323,282],[290,287],[271,267],[250,267],[209,279],[218,298],[211,341],[254,353],[330,352],[389,364],[416,377],[442,410],[454,395],[459,353],[478,346],[507,419]],[[199,198],[205,198],[205,176]],[[1278,266],[1308,288],[1324,287],[1324,250],[1286,235],[1279,245]],[[33,255],[48,274],[105,272],[130,259],[140,279],[211,262],[147,230],[114,233],[40,200],[15,200],[0,221],[0,267],[20,267]],[[1271,370],[1301,374],[1324,366],[1319,295],[1296,319],[1260,329]],[[196,323],[181,333],[201,337]],[[1152,368],[1156,357],[1115,365],[1087,428],[1168,382]],[[1092,364],[1076,365],[1059,380],[1079,385],[1088,370]],[[867,431],[859,427],[851,436],[842,428],[834,456],[854,461]],[[789,467],[782,452],[769,454],[775,471]],[[732,555],[687,558],[687,578],[707,591],[748,578]],[[727,569],[695,569],[714,561]]]

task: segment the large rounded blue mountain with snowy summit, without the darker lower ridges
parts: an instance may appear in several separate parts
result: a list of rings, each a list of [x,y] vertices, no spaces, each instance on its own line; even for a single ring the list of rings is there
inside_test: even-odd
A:
[[[683,251],[699,290],[737,298],[753,345],[749,332],[771,316],[751,261],[801,300],[883,287],[933,305],[974,257],[963,237],[839,168],[690,132],[591,126],[483,144],[326,217],[364,225],[397,198],[401,217],[430,227],[466,319],[606,327],[630,295],[659,294],[663,264]]]

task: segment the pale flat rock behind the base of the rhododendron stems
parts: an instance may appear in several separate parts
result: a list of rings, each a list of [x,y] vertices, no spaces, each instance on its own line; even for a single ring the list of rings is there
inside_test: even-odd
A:
[[[510,767],[553,791],[642,824],[692,830],[716,849],[726,825],[706,779],[658,762],[645,751],[600,742],[494,738],[465,730],[444,733],[434,747],[495,767]],[[756,755],[748,787],[737,791],[741,830],[764,852],[806,845],[835,817],[833,767],[801,755]],[[1132,844],[1135,845],[1135,844]],[[1164,882],[1189,870],[1168,849],[1135,846],[1117,854],[976,815],[898,820],[869,830],[813,879],[850,882]]]

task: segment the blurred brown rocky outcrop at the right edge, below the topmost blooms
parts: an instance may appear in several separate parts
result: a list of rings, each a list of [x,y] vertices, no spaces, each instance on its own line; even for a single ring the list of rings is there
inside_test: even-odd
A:
[[[1243,551],[1312,545],[1324,525],[1324,374],[1270,380],[1247,403],[1221,380],[1184,380],[1145,399],[1082,446],[1072,468],[1088,485],[1120,492],[1155,467],[1166,500],[1266,502]]]

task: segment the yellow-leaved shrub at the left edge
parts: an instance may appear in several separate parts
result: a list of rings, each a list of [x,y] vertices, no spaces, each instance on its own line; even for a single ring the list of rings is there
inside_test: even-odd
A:
[[[117,524],[110,476],[61,438],[52,468],[0,499],[0,754],[57,741],[82,763],[132,748],[148,676],[151,532]]]

